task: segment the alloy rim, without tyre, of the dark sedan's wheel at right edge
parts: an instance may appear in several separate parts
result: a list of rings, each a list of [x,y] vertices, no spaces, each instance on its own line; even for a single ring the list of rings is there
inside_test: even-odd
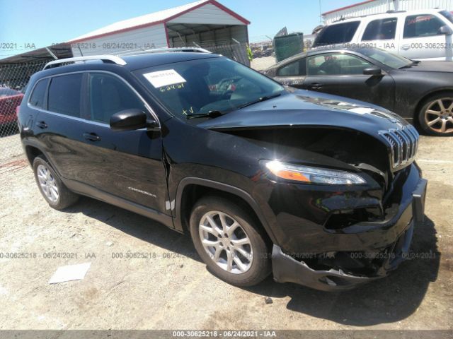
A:
[[[425,111],[425,123],[437,133],[452,133],[453,97],[442,97],[430,102]]]

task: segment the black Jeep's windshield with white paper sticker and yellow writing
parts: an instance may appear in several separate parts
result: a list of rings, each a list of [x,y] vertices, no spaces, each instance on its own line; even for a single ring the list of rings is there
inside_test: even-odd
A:
[[[285,89],[227,58],[196,59],[142,69],[140,81],[173,115],[224,114]]]

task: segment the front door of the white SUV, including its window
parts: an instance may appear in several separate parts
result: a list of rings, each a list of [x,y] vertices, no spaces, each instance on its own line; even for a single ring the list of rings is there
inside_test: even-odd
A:
[[[408,59],[445,60],[447,49],[452,49],[452,36],[440,32],[444,25],[447,23],[434,14],[405,16],[399,54]]]

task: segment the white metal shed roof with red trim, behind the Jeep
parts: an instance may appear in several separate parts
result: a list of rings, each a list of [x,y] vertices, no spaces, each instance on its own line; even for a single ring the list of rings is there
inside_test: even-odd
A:
[[[103,28],[99,28],[98,30],[93,30],[92,32],[89,32],[89,33],[86,33],[79,37],[76,37],[72,40],[69,40],[69,42],[86,40],[87,38],[91,38],[91,37],[98,37],[101,35],[110,35],[115,32],[121,32],[124,30],[130,30],[130,29],[134,29],[134,28],[155,25],[157,23],[163,23],[163,22],[166,22],[166,20],[176,18],[177,16],[180,16],[183,13],[187,13],[188,11],[191,11],[191,10],[198,8],[200,6],[203,6],[205,4],[214,4],[215,6],[226,11],[226,13],[229,13],[229,15],[232,15],[232,16],[238,18],[239,20],[243,21],[243,23],[245,23],[246,25],[248,25],[250,23],[245,18],[242,18],[241,16],[234,13],[233,11],[230,11],[228,8],[222,6],[222,4],[219,4],[215,0],[200,0],[200,1],[191,2],[190,4],[185,4],[183,6],[165,9],[164,11],[149,13],[149,14],[145,14],[144,16],[137,16],[136,18],[118,21],[117,23],[113,23],[113,24],[105,26]]]

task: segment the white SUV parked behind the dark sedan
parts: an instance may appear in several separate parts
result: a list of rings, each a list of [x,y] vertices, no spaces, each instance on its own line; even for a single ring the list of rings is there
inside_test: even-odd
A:
[[[415,60],[452,61],[453,15],[427,9],[389,11],[326,25],[314,48],[377,47]]]

